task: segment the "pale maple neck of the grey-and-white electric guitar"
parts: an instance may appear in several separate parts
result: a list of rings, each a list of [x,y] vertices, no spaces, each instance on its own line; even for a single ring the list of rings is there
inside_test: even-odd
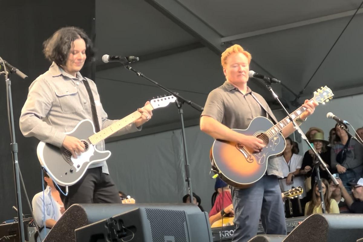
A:
[[[144,108],[148,108],[153,110],[154,108],[151,104],[147,104]],[[139,111],[135,111],[132,114],[127,115],[125,118],[118,120],[117,122],[111,124],[110,126],[104,128],[103,130],[91,135],[89,137],[89,141],[91,144],[95,145],[98,142],[106,139],[107,137],[115,134],[117,131],[121,130],[122,128],[126,127],[130,123],[134,122],[136,119],[141,117],[141,113]]]

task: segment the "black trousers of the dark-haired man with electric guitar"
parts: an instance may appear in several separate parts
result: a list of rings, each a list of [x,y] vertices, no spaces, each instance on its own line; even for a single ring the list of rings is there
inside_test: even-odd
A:
[[[68,187],[68,196],[60,194],[65,209],[76,203],[121,203],[116,185],[102,167],[87,169],[81,180]]]

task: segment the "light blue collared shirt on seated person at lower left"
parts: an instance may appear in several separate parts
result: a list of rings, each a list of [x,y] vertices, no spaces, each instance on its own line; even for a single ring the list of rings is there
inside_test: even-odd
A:
[[[45,214],[43,213],[43,206],[45,205]],[[43,192],[35,194],[32,200],[32,208],[34,213],[34,220],[38,223],[39,227],[44,227],[44,221],[53,219],[58,221],[62,216],[61,205],[54,200],[51,193],[50,186],[46,186]]]

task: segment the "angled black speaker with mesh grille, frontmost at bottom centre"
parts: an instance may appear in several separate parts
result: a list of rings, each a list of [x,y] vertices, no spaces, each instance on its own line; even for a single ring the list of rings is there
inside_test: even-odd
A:
[[[138,208],[75,230],[77,242],[212,242],[207,213]]]

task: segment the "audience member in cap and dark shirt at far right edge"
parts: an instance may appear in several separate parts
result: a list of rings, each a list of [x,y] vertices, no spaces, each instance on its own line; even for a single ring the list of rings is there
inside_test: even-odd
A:
[[[342,180],[337,180],[339,182],[339,187],[342,190],[342,195],[350,212],[363,213],[363,178],[360,178],[356,182],[348,183],[348,185],[351,186],[351,191],[356,201],[354,201],[350,194],[347,192],[347,189],[344,187]]]

